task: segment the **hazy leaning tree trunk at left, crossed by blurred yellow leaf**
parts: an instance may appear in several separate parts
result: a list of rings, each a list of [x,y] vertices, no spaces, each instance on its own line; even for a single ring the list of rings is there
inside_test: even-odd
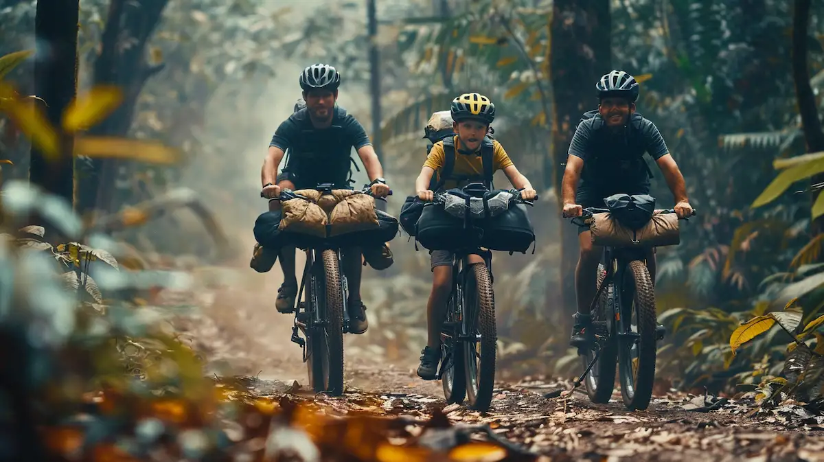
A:
[[[101,36],[101,51],[94,67],[95,85],[116,85],[124,92],[123,104],[101,124],[89,130],[93,136],[125,138],[132,125],[134,106],[149,77],[162,69],[145,58],[146,42],[168,0],[112,0]],[[124,161],[87,159],[77,209],[81,213],[99,209],[110,212],[119,207],[115,194],[118,166]]]

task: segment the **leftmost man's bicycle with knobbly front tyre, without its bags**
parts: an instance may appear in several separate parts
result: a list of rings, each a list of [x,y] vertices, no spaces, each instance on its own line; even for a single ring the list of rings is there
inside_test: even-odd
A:
[[[358,193],[372,195],[369,186]],[[330,194],[336,188],[333,184],[318,184],[314,189]],[[305,197],[284,189],[274,200],[292,198]],[[312,390],[332,396],[344,393],[344,334],[349,333],[349,286],[340,270],[340,262],[341,251],[345,253],[345,248],[352,245],[351,234],[327,238],[290,235],[293,244],[306,253],[300,288],[292,310],[288,311],[295,314],[290,339],[303,350],[302,358],[307,363]]]

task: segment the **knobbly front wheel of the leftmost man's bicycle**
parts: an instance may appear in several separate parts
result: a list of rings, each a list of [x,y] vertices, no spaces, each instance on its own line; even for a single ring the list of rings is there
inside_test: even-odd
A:
[[[310,380],[316,393],[344,393],[344,292],[338,254],[324,250],[322,273],[316,273],[316,310],[325,324],[311,328]]]

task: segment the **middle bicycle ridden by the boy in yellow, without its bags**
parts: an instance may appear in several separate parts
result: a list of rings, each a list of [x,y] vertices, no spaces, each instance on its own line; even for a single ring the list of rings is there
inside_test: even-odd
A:
[[[533,205],[520,198],[519,189],[504,191],[513,194],[511,203]],[[432,203],[443,204],[447,194],[436,193]],[[452,292],[441,328],[438,380],[447,404],[461,404],[467,399],[470,408],[486,411],[492,402],[498,348],[492,252],[477,245],[481,235],[472,234],[479,228],[469,226],[469,215],[466,213],[466,245],[453,250]],[[483,263],[470,264],[471,254],[480,255]]]

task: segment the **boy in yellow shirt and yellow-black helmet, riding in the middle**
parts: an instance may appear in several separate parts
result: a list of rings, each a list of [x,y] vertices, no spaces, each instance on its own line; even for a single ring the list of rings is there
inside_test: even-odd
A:
[[[443,141],[436,142],[424,162],[424,168],[420,170],[418,179],[415,180],[415,191],[424,201],[433,199],[434,191],[429,189],[429,181],[436,172],[439,180],[446,180],[441,190],[459,188],[471,181],[484,180],[480,150],[489,131],[489,124],[495,119],[495,105],[486,96],[465,93],[452,100],[450,113],[453,120],[452,128],[457,133],[452,137],[454,149],[449,150],[455,156],[452,174],[441,178],[447,151],[444,149]],[[529,180],[515,168],[501,143],[493,140],[492,149],[492,171],[503,170],[515,188],[523,189],[521,197],[525,200],[536,198],[535,189],[532,189]],[[438,363],[441,361],[441,326],[452,290],[454,259],[454,254],[448,250],[434,250],[429,254],[433,284],[426,307],[428,340],[426,347],[421,351],[418,367],[418,376],[424,380],[434,380],[438,374]],[[480,255],[470,255],[470,264],[483,262]]]

